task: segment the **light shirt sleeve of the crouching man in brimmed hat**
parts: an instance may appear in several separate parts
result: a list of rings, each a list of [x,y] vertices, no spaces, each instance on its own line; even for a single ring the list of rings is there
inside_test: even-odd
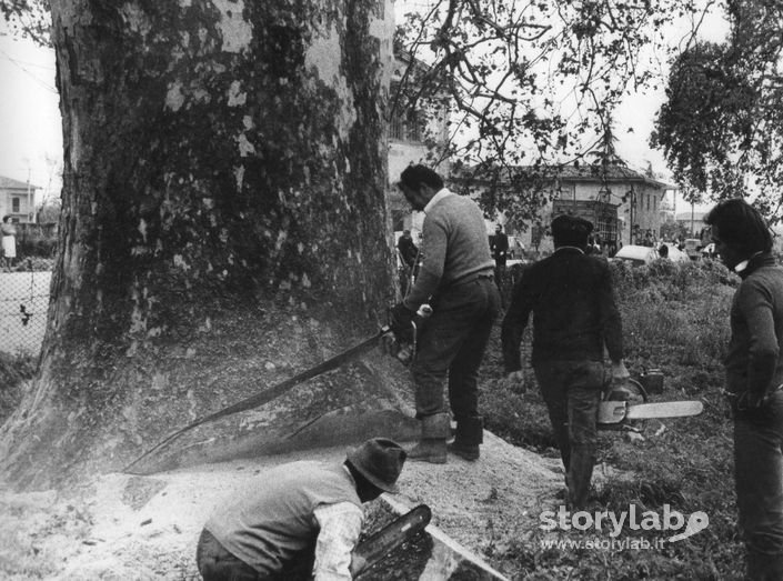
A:
[[[314,511],[321,530],[315,543],[314,581],[349,581],[351,551],[359,541],[364,514],[351,502],[322,504]]]

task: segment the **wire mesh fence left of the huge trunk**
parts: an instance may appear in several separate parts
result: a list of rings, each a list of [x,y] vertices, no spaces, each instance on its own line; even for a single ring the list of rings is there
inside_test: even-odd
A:
[[[51,272],[31,263],[0,272],[0,352],[37,355],[47,329]]]

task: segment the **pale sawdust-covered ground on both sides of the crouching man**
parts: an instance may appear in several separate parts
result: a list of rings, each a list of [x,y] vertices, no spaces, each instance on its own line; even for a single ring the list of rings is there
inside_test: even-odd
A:
[[[433,523],[472,552],[522,538],[551,508],[558,462],[489,432],[479,462],[409,462],[398,501],[426,503]],[[301,459],[341,461],[345,448],[210,464],[153,477],[107,474],[68,494],[0,494],[3,579],[199,579],[195,541],[234,487],[264,468]],[[523,529],[523,530],[520,530]]]

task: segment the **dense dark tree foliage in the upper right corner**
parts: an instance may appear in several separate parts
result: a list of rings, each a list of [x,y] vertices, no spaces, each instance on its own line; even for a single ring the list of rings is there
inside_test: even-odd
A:
[[[757,196],[780,213],[783,184],[783,4],[730,0],[731,34],[674,61],[651,142],[677,180],[712,199]]]

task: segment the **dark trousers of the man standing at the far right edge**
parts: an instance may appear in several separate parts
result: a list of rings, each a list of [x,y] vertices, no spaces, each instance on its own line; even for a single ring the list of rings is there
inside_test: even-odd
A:
[[[734,471],[747,577],[783,579],[783,391],[734,413]]]

